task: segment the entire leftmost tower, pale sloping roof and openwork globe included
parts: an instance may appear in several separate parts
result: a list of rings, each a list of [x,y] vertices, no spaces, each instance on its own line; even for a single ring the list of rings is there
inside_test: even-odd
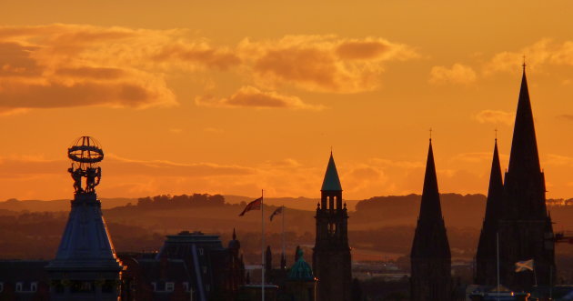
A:
[[[104,151],[94,138],[68,148],[75,196],[55,259],[46,266],[51,300],[117,300],[122,266],[116,258],[95,186]]]

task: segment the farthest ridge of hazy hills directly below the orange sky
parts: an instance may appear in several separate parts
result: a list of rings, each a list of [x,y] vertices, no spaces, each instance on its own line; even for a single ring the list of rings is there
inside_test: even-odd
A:
[[[460,195],[442,194],[441,205],[446,226],[481,228],[485,214],[486,196],[484,195]],[[211,213],[213,207],[224,205],[236,206],[239,212],[247,202],[252,201],[252,196],[222,196],[208,194],[189,194],[180,196],[160,195],[139,198],[101,198],[102,208],[109,210],[117,208],[122,212],[136,209],[137,212],[149,210],[198,210],[205,208]],[[407,196],[375,196],[365,200],[344,200],[347,203],[349,226],[356,230],[368,229],[379,226],[414,226],[419,213],[421,196],[411,194]],[[266,206],[286,206],[296,211],[307,211],[311,226],[312,212],[316,209],[318,198],[308,197],[266,197]],[[548,199],[548,210],[551,212],[555,229],[573,229],[573,220],[568,216],[573,215],[573,199]],[[70,209],[70,200],[25,200],[9,199],[0,202],[0,211],[13,212],[67,212]],[[127,210],[127,211],[126,211]],[[202,211],[202,210],[199,210]],[[213,211],[214,213],[216,211]],[[222,211],[226,212],[226,210]],[[219,212],[219,213],[222,213]],[[233,216],[231,212],[229,216]],[[232,219],[235,219],[233,217]],[[304,224],[307,224],[304,223]]]

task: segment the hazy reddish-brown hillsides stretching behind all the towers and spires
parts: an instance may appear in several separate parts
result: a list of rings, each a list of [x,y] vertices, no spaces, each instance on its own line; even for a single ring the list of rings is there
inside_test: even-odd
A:
[[[153,196],[103,199],[104,216],[116,249],[121,252],[156,250],[166,235],[182,230],[202,231],[221,236],[226,244],[233,229],[241,240],[246,260],[256,262],[260,254],[260,211],[238,216],[246,196]],[[268,198],[265,206],[266,241],[279,252],[282,216],[270,222],[268,216],[285,204],[286,250],[314,244],[317,199]],[[455,258],[474,256],[484,215],[486,196],[441,195],[447,236]],[[406,256],[411,247],[420,196],[377,196],[357,201],[349,212],[348,236],[356,260],[381,260]],[[557,231],[573,229],[573,206],[549,200],[548,208]],[[69,200],[0,202],[0,257],[50,258],[65,226]],[[558,253],[569,252],[561,245]]]

